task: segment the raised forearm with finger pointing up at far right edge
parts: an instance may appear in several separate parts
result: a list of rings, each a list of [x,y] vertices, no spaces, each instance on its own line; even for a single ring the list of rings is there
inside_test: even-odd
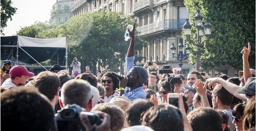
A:
[[[244,49],[241,51],[241,53],[243,54],[244,82],[246,82],[248,78],[252,77],[250,67],[249,67],[249,62],[248,62],[248,57],[250,52],[251,52],[251,45],[248,42],[248,48],[244,47]]]

